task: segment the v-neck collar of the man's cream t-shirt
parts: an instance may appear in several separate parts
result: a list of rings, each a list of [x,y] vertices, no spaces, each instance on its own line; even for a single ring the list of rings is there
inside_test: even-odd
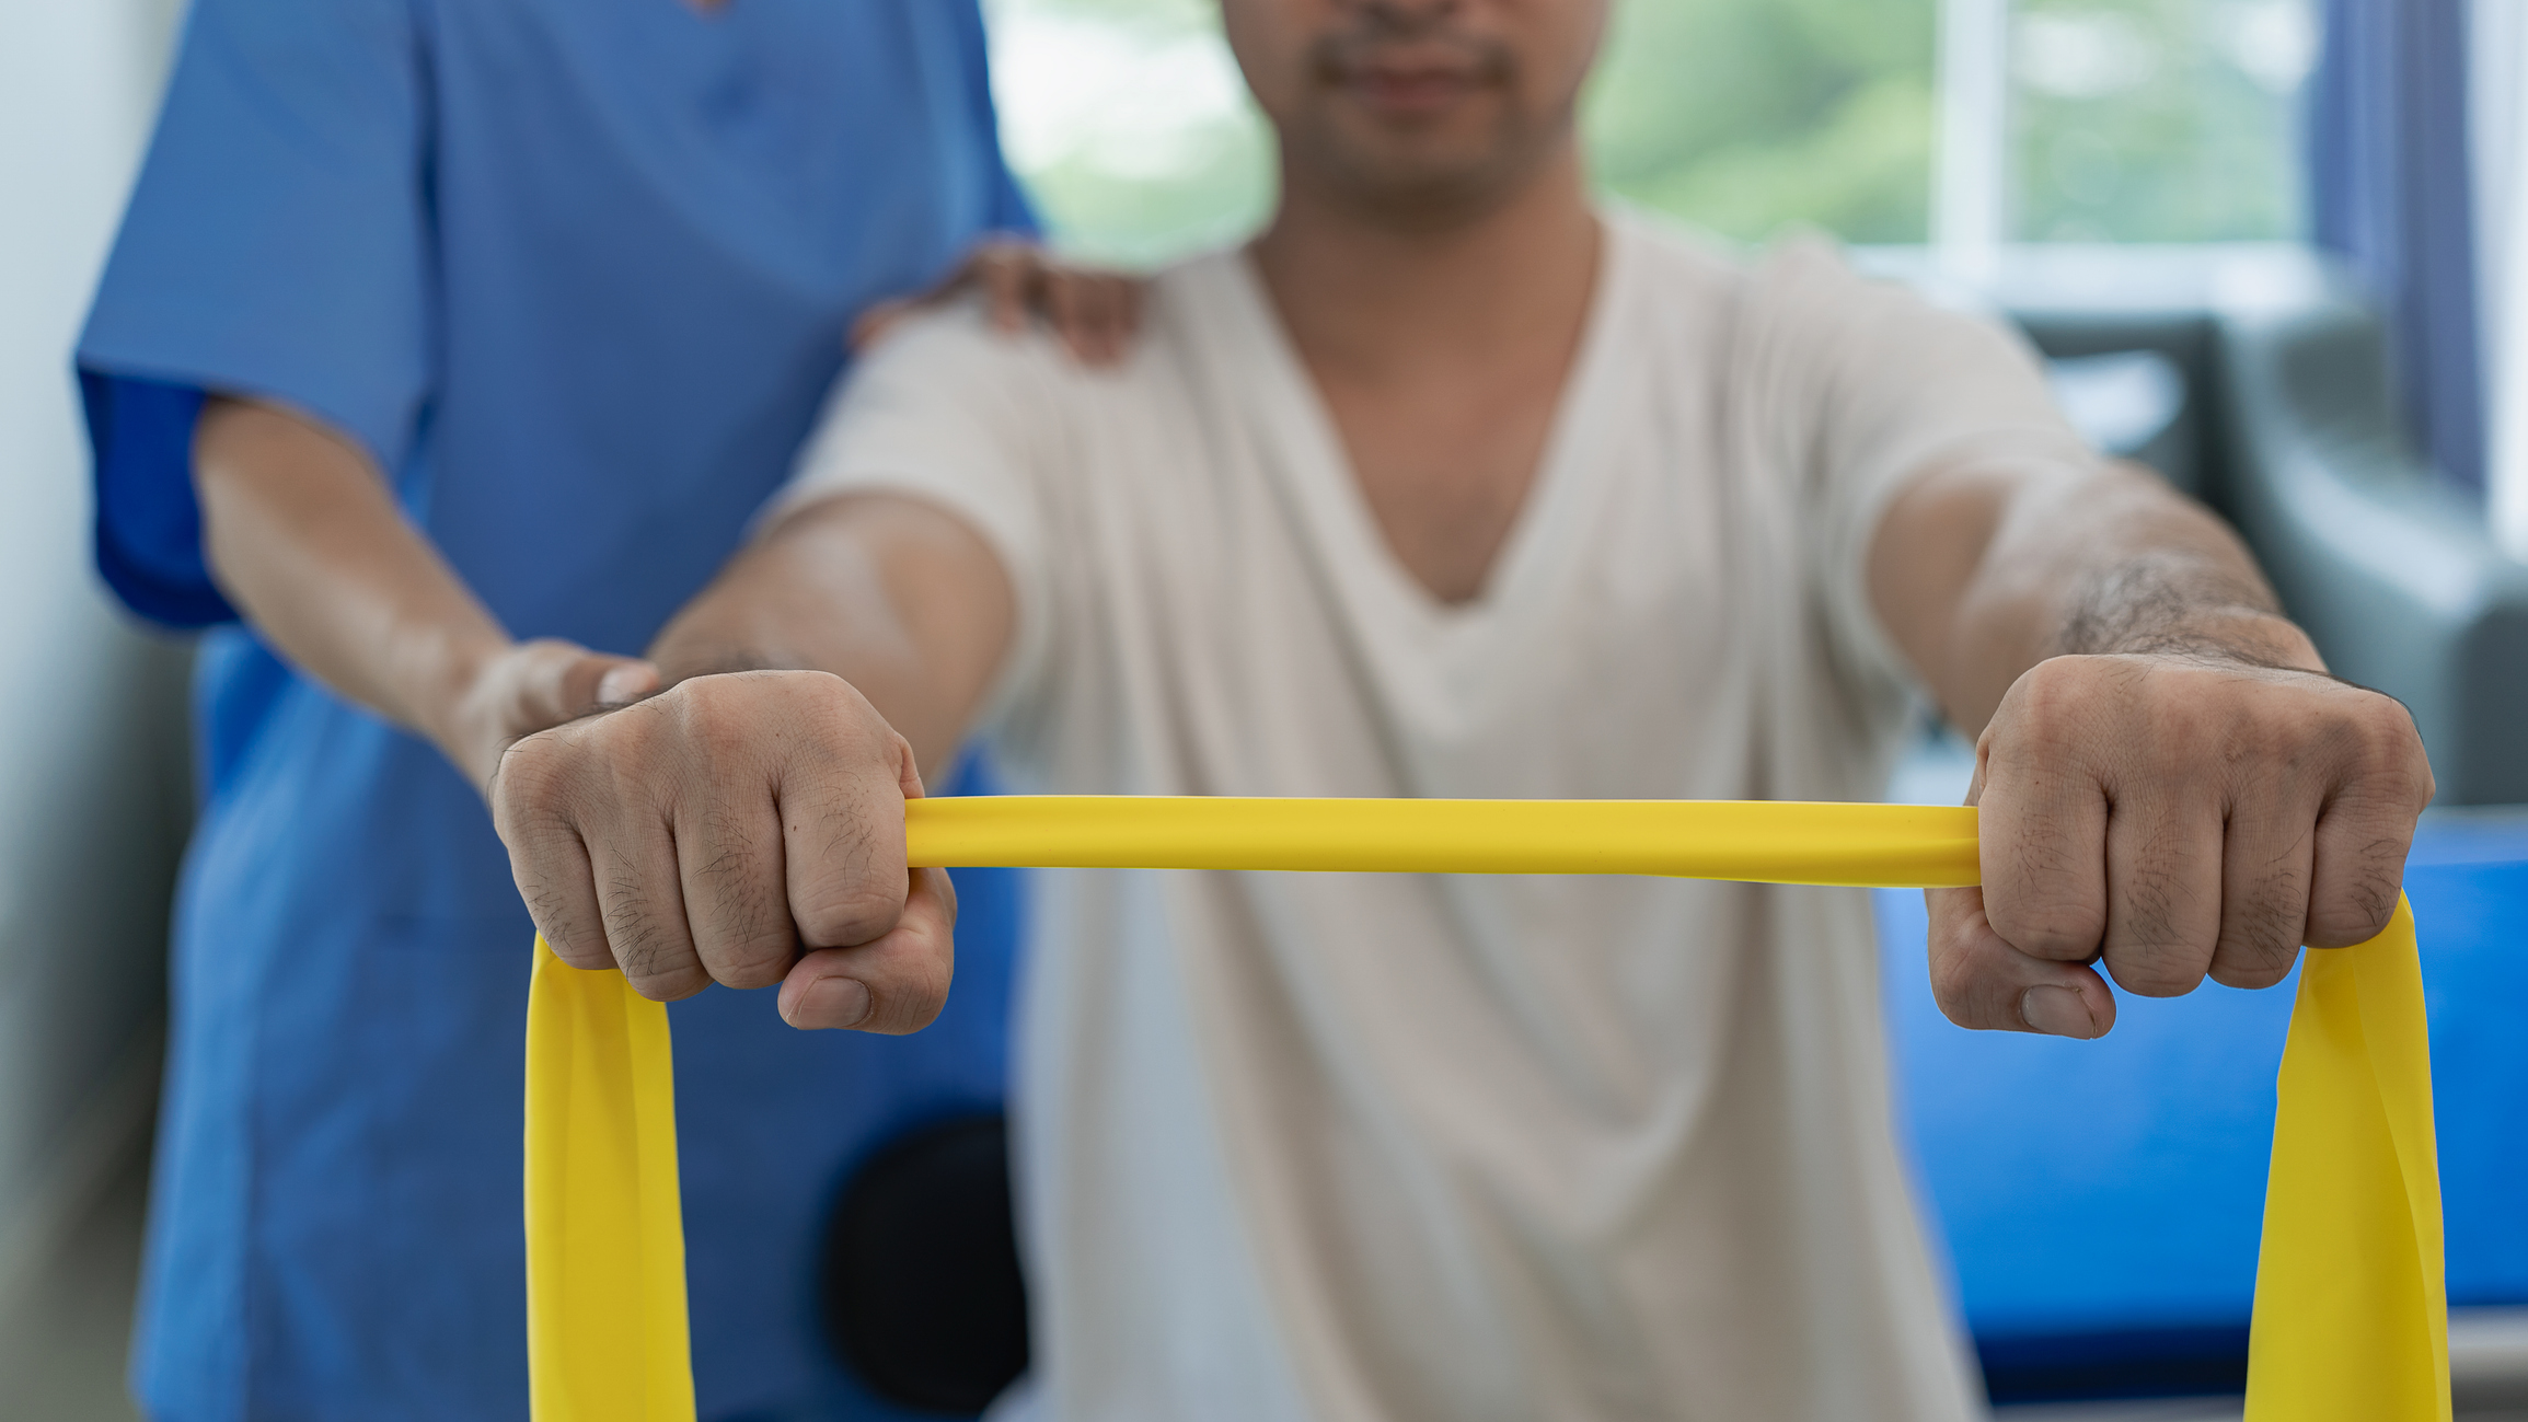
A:
[[[1598,278],[1588,298],[1580,344],[1572,351],[1572,366],[1555,399],[1552,427],[1537,457],[1534,477],[1519,500],[1509,533],[1492,556],[1492,566],[1484,571],[1481,591],[1459,604],[1433,594],[1395,556],[1395,548],[1378,525],[1378,513],[1370,508],[1368,493],[1360,487],[1360,472],[1352,467],[1352,455],[1335,429],[1325,394],[1317,389],[1315,376],[1310,376],[1307,361],[1299,359],[1299,349],[1282,323],[1282,313],[1261,273],[1256,273],[1254,258],[1246,250],[1226,255],[1224,265],[1231,273],[1231,285],[1239,303],[1246,306],[1244,316],[1259,338],[1256,364],[1261,366],[1261,379],[1256,389],[1269,404],[1279,407],[1274,412],[1277,419],[1269,419],[1267,427],[1282,429],[1292,439],[1294,457],[1289,460],[1289,475],[1299,485],[1297,493],[1302,495],[1299,503],[1307,508],[1307,518],[1317,523],[1317,538],[1325,541],[1335,561],[1365,571],[1380,589],[1380,601],[1406,611],[1413,621],[1433,629],[1492,624],[1507,611],[1532,604],[1534,599],[1527,594],[1537,578],[1550,573],[1552,553],[1562,543],[1555,538],[1555,530],[1575,518],[1575,505],[1593,482],[1588,475],[1598,462],[1595,455],[1608,432],[1605,414],[1615,397],[1618,374],[1615,331],[1628,306],[1626,290],[1633,285],[1633,260],[1620,222],[1600,215],[1598,232]]]

